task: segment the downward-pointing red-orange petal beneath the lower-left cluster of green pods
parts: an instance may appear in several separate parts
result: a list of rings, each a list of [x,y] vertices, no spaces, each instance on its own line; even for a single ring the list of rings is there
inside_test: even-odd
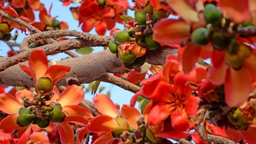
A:
[[[58,128],[60,133],[60,141],[62,144],[74,143],[74,131],[68,122],[64,121],[62,123],[58,123]]]

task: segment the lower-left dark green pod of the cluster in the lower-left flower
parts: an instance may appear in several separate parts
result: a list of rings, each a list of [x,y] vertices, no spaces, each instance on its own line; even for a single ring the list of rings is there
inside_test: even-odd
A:
[[[21,127],[28,126],[33,122],[35,117],[36,115],[34,114],[22,114],[18,116],[16,123]]]

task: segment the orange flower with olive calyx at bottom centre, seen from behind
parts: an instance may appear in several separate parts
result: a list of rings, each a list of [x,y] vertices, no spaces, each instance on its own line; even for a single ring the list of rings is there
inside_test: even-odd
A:
[[[116,128],[121,128],[122,131],[128,130],[128,126],[134,129],[138,128],[136,122],[140,116],[138,109],[131,108],[129,105],[123,105],[121,109],[122,119],[120,118],[115,104],[108,96],[97,94],[92,100],[102,115],[91,119],[87,125],[87,130],[94,133],[104,133],[104,135],[95,140],[93,144],[102,144],[107,141],[115,140],[115,133],[112,134],[112,130],[117,130]],[[122,125],[117,123],[120,119],[124,121]]]

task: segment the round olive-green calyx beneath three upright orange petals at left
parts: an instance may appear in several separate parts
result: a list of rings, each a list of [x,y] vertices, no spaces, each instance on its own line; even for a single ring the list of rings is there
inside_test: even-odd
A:
[[[44,93],[51,92],[53,88],[52,81],[48,77],[40,77],[36,81],[36,89],[38,91],[44,91]]]

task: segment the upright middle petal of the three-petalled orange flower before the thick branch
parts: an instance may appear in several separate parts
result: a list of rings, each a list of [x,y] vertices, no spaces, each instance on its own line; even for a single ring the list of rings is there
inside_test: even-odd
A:
[[[48,60],[42,49],[34,49],[28,60],[32,73],[35,73],[36,80],[44,76],[48,69]]]

